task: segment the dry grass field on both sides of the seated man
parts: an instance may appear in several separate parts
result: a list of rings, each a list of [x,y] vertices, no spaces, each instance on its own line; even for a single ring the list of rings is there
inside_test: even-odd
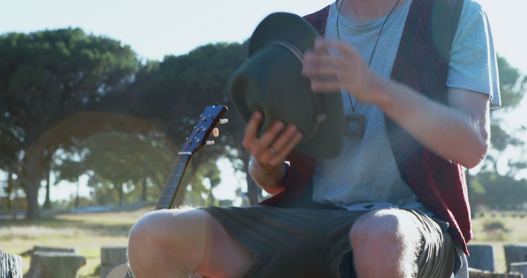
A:
[[[86,257],[86,265],[79,271],[80,278],[99,277],[101,246],[126,246],[128,232],[144,213],[153,210],[144,207],[131,212],[63,214],[34,222],[2,220],[0,222],[0,250],[19,254],[35,245],[73,247]],[[527,214],[527,213],[524,213]],[[512,217],[512,212],[473,220],[473,244],[492,244],[496,270],[505,271],[503,244],[527,242],[527,219]],[[502,222],[507,231],[483,231],[484,223]],[[30,257],[23,257],[23,272],[29,269]]]

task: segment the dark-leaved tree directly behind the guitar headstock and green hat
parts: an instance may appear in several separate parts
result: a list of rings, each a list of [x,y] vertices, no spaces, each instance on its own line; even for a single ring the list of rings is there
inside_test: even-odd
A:
[[[201,188],[193,172],[202,165],[213,165],[219,157],[228,157],[239,170],[246,171],[248,154],[241,146],[245,123],[228,97],[229,78],[246,57],[247,44],[209,44],[187,55],[165,56],[162,62],[149,62],[136,75],[130,86],[131,114],[156,123],[175,144],[191,133],[203,108],[225,104],[229,124],[220,126],[217,144],[196,155],[189,166],[187,178]],[[241,165],[240,165],[241,163]],[[250,176],[247,175],[250,179]],[[258,199],[258,186],[249,187]],[[180,192],[177,204],[187,191]],[[255,201],[256,202],[256,201]]]

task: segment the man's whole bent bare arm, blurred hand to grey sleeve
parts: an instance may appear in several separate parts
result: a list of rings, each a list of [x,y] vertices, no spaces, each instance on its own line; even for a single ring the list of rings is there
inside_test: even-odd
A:
[[[327,48],[343,54],[331,56]],[[490,142],[489,95],[448,89],[448,105],[372,72],[360,53],[344,43],[316,41],[304,55],[302,73],[317,93],[347,90],[361,103],[379,106],[425,147],[447,160],[472,168],[486,155]],[[325,78],[320,78],[325,77]]]

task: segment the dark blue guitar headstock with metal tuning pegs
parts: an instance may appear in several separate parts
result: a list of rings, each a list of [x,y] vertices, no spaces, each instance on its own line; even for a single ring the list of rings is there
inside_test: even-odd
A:
[[[181,151],[193,155],[203,146],[213,144],[214,141],[207,140],[214,128],[216,128],[216,125],[227,123],[226,119],[221,118],[226,111],[227,106],[225,105],[205,107],[192,133],[186,138],[186,142]],[[217,136],[217,134],[214,135]]]

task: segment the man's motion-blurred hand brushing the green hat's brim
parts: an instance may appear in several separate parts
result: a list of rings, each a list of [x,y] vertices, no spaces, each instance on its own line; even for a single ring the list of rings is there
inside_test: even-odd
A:
[[[328,49],[336,49],[341,56],[332,56]],[[369,70],[360,53],[345,43],[315,41],[314,51],[306,51],[302,75],[311,80],[316,93],[347,90],[361,103],[376,103],[379,77]]]

